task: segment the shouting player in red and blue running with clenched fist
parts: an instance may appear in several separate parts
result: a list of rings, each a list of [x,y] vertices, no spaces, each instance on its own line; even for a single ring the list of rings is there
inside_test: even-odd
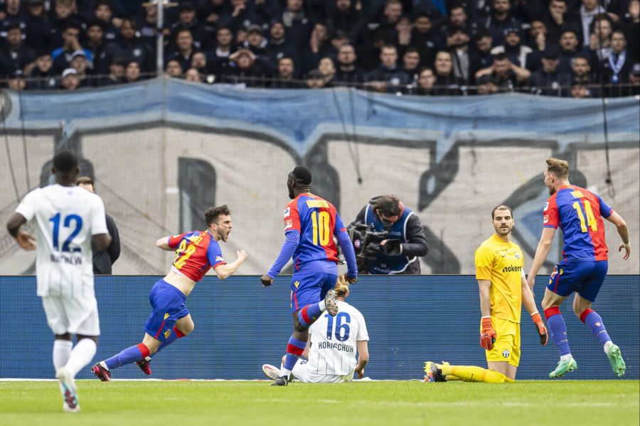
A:
[[[196,283],[210,268],[224,280],[247,260],[247,253],[240,250],[233,263],[226,263],[220,251],[218,241],[227,241],[233,227],[229,207],[211,207],[205,212],[205,222],[206,231],[190,231],[156,241],[159,249],[176,251],[171,271],[151,288],[149,302],[153,311],[144,325],[142,343],[92,366],[91,371],[101,381],[110,381],[114,368],[132,363],[149,376],[151,356],[193,331],[195,326],[185,300]]]

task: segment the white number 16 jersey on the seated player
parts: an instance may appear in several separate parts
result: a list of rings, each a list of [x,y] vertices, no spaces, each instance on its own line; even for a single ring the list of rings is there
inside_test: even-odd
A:
[[[357,359],[356,342],[369,340],[367,324],[355,307],[338,300],[338,315],[328,312],[309,327],[311,348],[307,370],[312,375],[353,374]]]

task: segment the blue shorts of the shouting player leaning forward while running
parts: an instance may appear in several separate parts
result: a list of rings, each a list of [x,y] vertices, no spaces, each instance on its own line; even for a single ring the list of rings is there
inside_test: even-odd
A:
[[[144,324],[144,332],[164,342],[174,329],[176,321],[189,315],[184,301],[186,296],[165,280],[157,281],[149,293],[153,312]]]

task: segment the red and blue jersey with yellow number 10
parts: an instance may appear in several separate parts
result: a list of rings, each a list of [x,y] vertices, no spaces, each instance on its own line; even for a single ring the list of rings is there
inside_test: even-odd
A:
[[[334,204],[312,194],[301,194],[284,209],[284,233],[298,231],[299,244],[293,255],[294,272],[310,270],[318,262],[338,263],[334,234],[346,231]],[[310,271],[311,272],[311,271]],[[331,272],[331,271],[328,271]],[[335,272],[334,272],[335,273]]]

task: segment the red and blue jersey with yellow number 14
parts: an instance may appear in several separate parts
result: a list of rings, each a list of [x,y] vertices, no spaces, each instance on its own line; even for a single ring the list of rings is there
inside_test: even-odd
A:
[[[604,221],[613,208],[599,195],[575,185],[560,187],[549,197],[543,211],[543,226],[563,233],[563,261],[606,261]]]

